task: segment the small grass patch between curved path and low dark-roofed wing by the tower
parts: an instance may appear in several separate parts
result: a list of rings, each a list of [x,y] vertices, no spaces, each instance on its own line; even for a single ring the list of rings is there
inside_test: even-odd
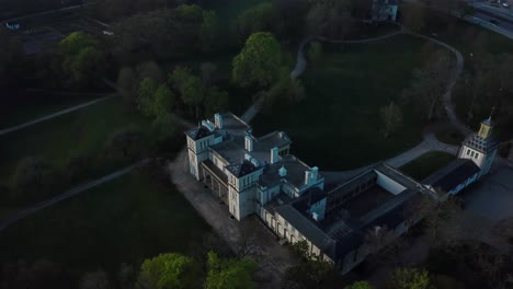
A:
[[[432,151],[402,165],[399,170],[418,181],[422,181],[455,159],[456,157],[451,153]]]

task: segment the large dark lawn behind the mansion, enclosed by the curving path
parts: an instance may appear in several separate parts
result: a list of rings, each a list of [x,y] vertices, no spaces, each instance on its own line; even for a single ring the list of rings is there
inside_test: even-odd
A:
[[[258,135],[280,129],[293,140],[293,153],[321,170],[346,170],[386,160],[422,139],[423,123],[403,107],[402,127],[381,134],[379,108],[400,95],[422,63],[423,39],[396,36],[372,44],[324,45],[322,60],[303,77],[307,99],[277,104],[256,116]]]

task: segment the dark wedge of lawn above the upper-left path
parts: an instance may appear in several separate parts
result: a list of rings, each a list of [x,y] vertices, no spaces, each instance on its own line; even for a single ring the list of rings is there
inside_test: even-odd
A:
[[[15,104],[7,105],[5,109],[0,108],[0,129],[21,125],[105,95],[106,93],[84,93],[79,95],[50,94],[45,92],[19,93],[13,96],[16,100]]]

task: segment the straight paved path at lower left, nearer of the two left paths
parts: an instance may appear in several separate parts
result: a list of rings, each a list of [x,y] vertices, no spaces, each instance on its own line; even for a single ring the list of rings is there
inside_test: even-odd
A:
[[[68,199],[70,197],[72,197],[72,196],[76,196],[76,195],[78,195],[78,194],[80,194],[80,193],[82,193],[84,190],[88,190],[88,189],[90,189],[92,187],[99,186],[99,185],[104,184],[104,183],[106,183],[109,181],[117,178],[117,177],[119,177],[119,176],[122,176],[124,174],[127,174],[132,170],[134,170],[135,167],[137,167],[137,166],[139,166],[141,164],[145,164],[147,162],[148,162],[148,160],[142,160],[142,161],[137,162],[137,163],[135,163],[135,164],[133,164],[130,166],[127,166],[127,167],[123,169],[123,170],[119,170],[119,171],[116,171],[116,172],[114,172],[112,174],[105,175],[105,176],[103,176],[103,177],[101,177],[99,180],[86,183],[86,184],[80,185],[80,186],[78,186],[76,188],[72,188],[72,189],[70,189],[70,190],[68,190],[68,192],[66,192],[66,193],[64,193],[61,195],[55,196],[53,198],[41,201],[41,203],[38,203],[38,204],[36,204],[36,205],[32,206],[32,207],[29,207],[29,208],[18,212],[16,215],[12,216],[11,218],[8,218],[7,220],[0,222],[0,232],[3,231],[9,226],[13,224],[14,222],[16,222],[16,221],[19,221],[19,220],[21,220],[23,218],[26,218],[26,217],[33,215],[34,212],[37,212],[37,211],[39,211],[42,209],[45,209],[45,208],[47,208],[47,207],[49,207],[49,206],[52,206],[54,204],[57,204],[57,203],[59,203],[61,200],[65,200],[65,199]]]

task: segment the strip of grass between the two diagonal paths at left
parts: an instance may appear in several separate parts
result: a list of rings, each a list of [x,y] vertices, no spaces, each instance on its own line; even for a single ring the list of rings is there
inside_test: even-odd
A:
[[[62,169],[73,157],[98,155],[114,131],[129,125],[146,128],[149,120],[115,97],[2,136],[0,183],[11,182],[24,157],[38,155]]]

